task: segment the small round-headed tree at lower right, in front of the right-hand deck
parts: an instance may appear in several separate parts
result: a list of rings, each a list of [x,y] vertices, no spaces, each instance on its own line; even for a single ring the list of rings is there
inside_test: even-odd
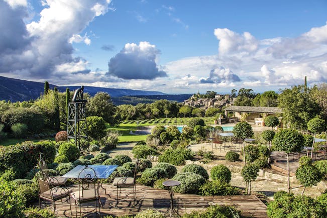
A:
[[[319,170],[311,165],[311,159],[306,156],[300,158],[300,166],[296,169],[295,175],[296,179],[304,186],[302,195],[306,187],[317,185],[321,179]]]

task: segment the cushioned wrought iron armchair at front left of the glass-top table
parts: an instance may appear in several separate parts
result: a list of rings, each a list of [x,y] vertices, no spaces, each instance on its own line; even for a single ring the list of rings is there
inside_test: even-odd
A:
[[[39,191],[39,205],[41,208],[41,199],[45,201],[51,201],[53,203],[53,211],[56,214],[56,201],[66,198],[66,201],[69,202],[70,207],[70,214],[71,212],[71,205],[70,205],[70,196],[69,193],[71,190],[59,186],[54,186],[54,183],[58,182],[56,181],[56,178],[53,177],[46,177],[42,171],[38,171],[35,174],[35,180],[38,186]]]

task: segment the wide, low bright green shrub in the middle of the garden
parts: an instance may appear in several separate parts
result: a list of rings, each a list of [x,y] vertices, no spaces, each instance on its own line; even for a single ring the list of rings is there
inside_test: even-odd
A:
[[[162,155],[159,156],[158,162],[166,162],[173,165],[182,165],[185,160],[191,160],[193,153],[186,148],[178,147],[176,149],[168,148]]]

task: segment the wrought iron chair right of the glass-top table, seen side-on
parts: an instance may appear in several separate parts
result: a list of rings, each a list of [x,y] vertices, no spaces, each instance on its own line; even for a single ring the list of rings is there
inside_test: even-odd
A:
[[[119,196],[121,196],[121,188],[127,188],[127,187],[133,187],[133,199],[134,199],[134,205],[136,204],[136,174],[137,174],[137,169],[138,169],[138,164],[139,164],[139,156],[136,157],[136,162],[135,162],[135,169],[133,171],[127,171],[124,173],[122,177],[116,177],[113,181],[113,186],[117,187],[117,205],[118,205],[118,189],[119,189]],[[128,177],[125,176],[128,173],[134,173],[133,177]],[[128,195],[127,195],[128,196]]]

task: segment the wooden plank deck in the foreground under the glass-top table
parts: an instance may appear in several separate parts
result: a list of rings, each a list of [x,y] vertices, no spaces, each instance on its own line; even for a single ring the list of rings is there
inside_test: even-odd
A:
[[[143,185],[137,185],[137,204],[133,206],[133,188],[122,188],[122,197],[127,193],[132,193],[129,196],[119,201],[116,205],[116,188],[111,184],[104,184],[104,189],[100,188],[100,198],[103,208],[100,208],[102,215],[116,215],[123,216],[127,214],[136,214],[148,208],[154,208],[165,213],[170,206],[170,198],[167,190],[151,188]],[[67,187],[69,189],[77,190],[76,185]],[[205,209],[213,204],[233,205],[242,211],[245,216],[251,217],[267,217],[267,207],[255,195],[235,195],[235,196],[199,196],[194,194],[180,194],[175,193],[175,208],[179,214],[190,212],[192,210]],[[42,201],[43,203],[43,201]],[[37,202],[38,205],[38,202]],[[51,204],[50,204],[51,205]],[[61,203],[60,200],[56,202],[57,216],[71,217],[76,216],[74,200],[71,198],[72,215],[70,214],[69,204],[67,202]],[[45,204],[41,204],[43,208]],[[94,208],[94,202],[82,204],[82,212]],[[52,208],[49,208],[52,209]],[[79,208],[77,207],[79,213]],[[167,213],[166,215],[169,215]],[[89,214],[88,217],[94,217]]]

